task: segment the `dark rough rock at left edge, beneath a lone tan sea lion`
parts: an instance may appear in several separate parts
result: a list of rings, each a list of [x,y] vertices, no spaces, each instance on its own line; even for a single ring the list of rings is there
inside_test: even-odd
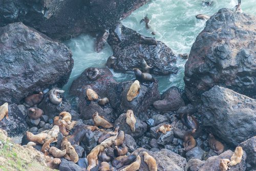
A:
[[[26,123],[24,115],[19,110],[17,104],[8,105],[8,115],[9,120],[4,117],[4,119],[0,121],[1,129],[7,131],[9,137],[24,135],[28,125]]]

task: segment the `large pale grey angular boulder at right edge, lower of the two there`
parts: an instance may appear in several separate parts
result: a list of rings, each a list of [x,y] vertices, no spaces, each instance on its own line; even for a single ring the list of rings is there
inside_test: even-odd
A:
[[[254,136],[256,100],[215,86],[202,94],[202,101],[203,126],[215,136],[234,146]]]

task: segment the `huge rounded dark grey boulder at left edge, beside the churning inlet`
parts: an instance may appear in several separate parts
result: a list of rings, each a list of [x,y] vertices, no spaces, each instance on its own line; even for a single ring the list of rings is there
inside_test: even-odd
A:
[[[0,28],[0,47],[0,84],[5,85],[0,87],[5,92],[0,103],[20,103],[34,92],[67,83],[73,59],[65,45],[22,23],[12,23]]]

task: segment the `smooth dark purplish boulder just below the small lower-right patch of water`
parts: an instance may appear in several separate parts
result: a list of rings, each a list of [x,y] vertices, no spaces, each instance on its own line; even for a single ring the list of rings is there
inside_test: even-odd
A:
[[[185,105],[182,93],[184,92],[177,87],[169,88],[162,94],[161,100],[153,103],[154,108],[159,112],[177,111],[181,106]]]

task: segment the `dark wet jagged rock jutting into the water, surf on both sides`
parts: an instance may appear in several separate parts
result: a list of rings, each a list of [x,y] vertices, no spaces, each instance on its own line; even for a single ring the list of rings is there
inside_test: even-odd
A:
[[[163,42],[153,38],[154,45],[140,42],[144,37],[136,31],[118,24],[110,31],[108,43],[113,49],[116,59],[113,69],[120,72],[132,71],[134,68],[142,68],[141,60],[144,58],[151,72],[156,75],[176,74],[176,55]],[[142,70],[143,71],[143,70]]]

